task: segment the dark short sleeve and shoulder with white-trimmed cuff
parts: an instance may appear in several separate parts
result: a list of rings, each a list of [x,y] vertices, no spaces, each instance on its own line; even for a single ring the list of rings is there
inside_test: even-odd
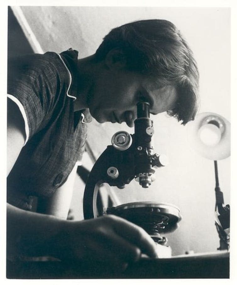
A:
[[[48,122],[57,106],[63,106],[68,77],[63,62],[55,52],[9,60],[8,97],[22,113],[27,139]]]

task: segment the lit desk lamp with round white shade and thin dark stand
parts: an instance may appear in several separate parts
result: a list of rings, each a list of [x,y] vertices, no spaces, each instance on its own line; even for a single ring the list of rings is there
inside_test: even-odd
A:
[[[219,187],[217,160],[230,156],[230,123],[219,114],[204,112],[188,124],[188,141],[201,156],[214,160],[216,180],[215,225],[220,238],[218,249],[229,249],[230,206],[224,206]]]

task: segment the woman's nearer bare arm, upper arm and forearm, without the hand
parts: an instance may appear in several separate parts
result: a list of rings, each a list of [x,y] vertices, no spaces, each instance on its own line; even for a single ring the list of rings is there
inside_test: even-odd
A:
[[[8,101],[7,173],[25,143],[25,123],[19,107]],[[51,255],[46,246],[58,234],[61,224],[52,216],[39,215],[7,204],[7,256]]]

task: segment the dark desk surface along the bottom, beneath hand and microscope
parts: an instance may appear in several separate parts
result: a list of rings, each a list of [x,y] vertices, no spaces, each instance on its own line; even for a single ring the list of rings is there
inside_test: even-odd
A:
[[[229,253],[142,258],[120,273],[109,267],[96,268],[83,262],[31,261],[7,262],[10,279],[87,279],[87,278],[229,278]]]

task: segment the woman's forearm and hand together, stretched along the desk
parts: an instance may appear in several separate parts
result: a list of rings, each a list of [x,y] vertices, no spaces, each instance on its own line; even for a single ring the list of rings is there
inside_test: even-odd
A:
[[[85,221],[7,206],[7,257],[53,256],[60,260],[86,260],[121,270],[141,253],[157,256],[157,246],[140,227],[113,215]]]

